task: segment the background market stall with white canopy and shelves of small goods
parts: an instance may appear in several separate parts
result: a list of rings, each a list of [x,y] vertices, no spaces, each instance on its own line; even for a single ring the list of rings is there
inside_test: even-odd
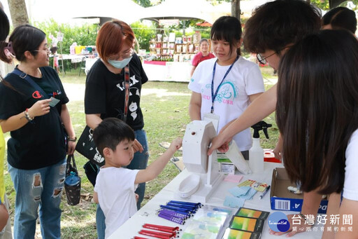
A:
[[[222,8],[221,8],[222,9]],[[216,12],[216,13],[215,13]],[[215,14],[214,14],[215,13]],[[153,20],[161,26],[176,25],[179,20],[202,20],[211,25],[221,15],[206,0],[166,0],[162,4],[145,8],[141,20]],[[150,41],[150,60],[144,61],[144,69],[148,78],[154,81],[184,81],[189,82],[192,59],[199,52],[201,33],[176,36],[174,32],[166,32],[153,36]]]

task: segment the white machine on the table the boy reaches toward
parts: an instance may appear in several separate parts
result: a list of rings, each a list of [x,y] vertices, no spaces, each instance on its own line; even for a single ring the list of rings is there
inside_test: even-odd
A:
[[[224,175],[220,172],[220,163],[217,163],[217,153],[208,156],[210,142],[216,136],[212,122],[192,121],[187,125],[182,139],[182,161],[189,171],[179,185],[178,196],[206,203],[215,191]],[[233,142],[229,150],[229,159],[244,174],[250,173],[236,143]]]

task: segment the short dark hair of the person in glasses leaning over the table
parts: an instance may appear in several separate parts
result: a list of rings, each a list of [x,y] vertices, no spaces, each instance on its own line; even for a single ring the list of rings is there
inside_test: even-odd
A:
[[[321,12],[300,0],[277,0],[259,6],[245,23],[243,44],[250,53],[275,53],[321,27]]]

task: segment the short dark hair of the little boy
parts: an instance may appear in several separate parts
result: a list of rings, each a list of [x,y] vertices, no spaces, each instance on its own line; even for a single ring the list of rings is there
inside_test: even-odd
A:
[[[103,156],[103,149],[110,148],[115,151],[123,140],[134,141],[134,131],[118,118],[105,118],[93,131],[94,144]]]

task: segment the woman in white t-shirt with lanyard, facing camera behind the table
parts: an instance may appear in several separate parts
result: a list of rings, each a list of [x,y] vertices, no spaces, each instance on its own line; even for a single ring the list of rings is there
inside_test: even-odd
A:
[[[259,67],[241,57],[241,34],[241,23],[237,18],[224,16],[217,19],[210,32],[216,58],[201,62],[188,86],[192,90],[190,119],[202,120],[210,112],[220,116],[217,132],[238,118],[250,102],[264,92]],[[248,150],[252,146],[250,129],[235,135],[234,141],[248,159]]]

